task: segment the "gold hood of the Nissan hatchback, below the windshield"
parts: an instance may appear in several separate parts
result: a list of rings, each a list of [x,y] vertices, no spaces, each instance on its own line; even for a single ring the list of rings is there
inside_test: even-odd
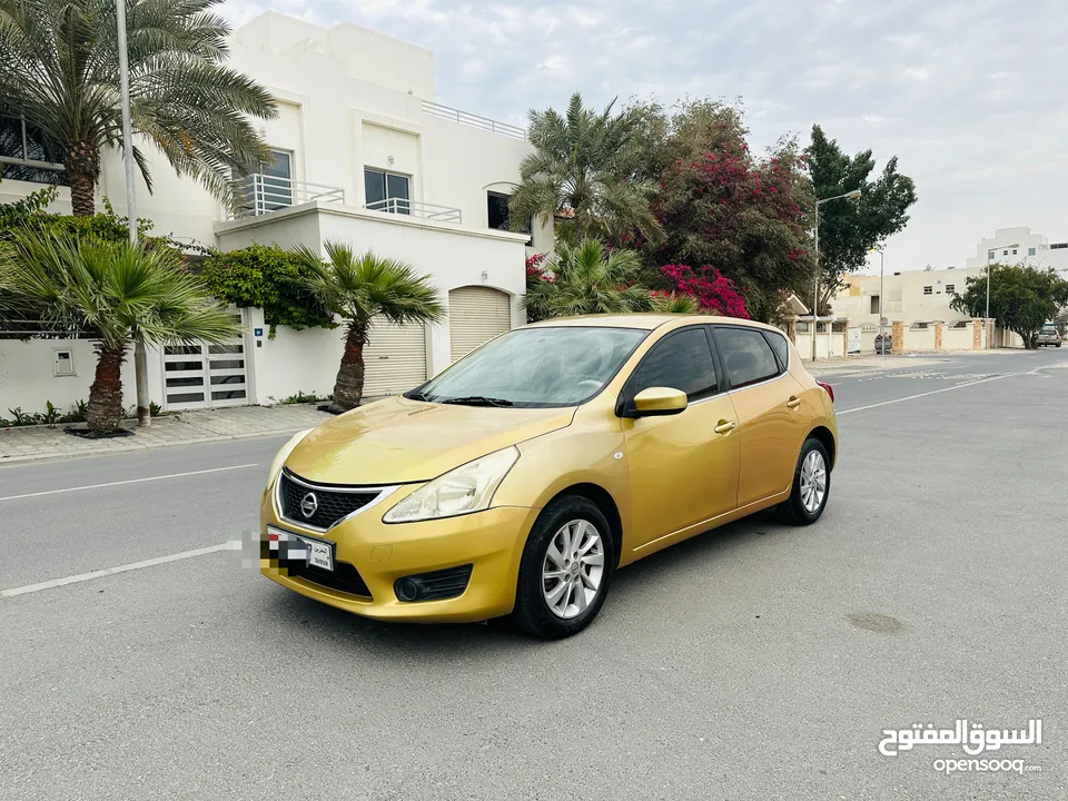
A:
[[[456,406],[393,397],[346,412],[309,433],[286,458],[323,484],[406,484],[571,424],[575,409]]]

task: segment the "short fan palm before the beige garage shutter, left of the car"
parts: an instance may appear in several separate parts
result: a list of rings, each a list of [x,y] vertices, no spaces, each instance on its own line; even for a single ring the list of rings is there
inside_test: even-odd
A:
[[[364,395],[364,346],[370,322],[382,317],[395,325],[431,323],[445,314],[428,276],[395,259],[367,251],[357,255],[342,243],[326,243],[327,259],[306,246],[296,249],[312,277],[301,281],[316,300],[346,320],[345,353],[334,383],[333,412],[356,408]]]

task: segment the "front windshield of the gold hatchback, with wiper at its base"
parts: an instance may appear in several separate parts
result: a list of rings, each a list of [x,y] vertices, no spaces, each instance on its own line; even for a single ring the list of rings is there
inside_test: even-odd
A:
[[[636,328],[520,328],[405,397],[468,406],[577,406],[601,392],[646,336]]]

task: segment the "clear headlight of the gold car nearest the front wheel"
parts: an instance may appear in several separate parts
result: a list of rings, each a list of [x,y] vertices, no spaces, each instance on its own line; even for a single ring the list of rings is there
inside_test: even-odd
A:
[[[383,523],[414,523],[481,512],[490,508],[493,494],[520,458],[513,445],[479,456],[419,487],[386,512]]]

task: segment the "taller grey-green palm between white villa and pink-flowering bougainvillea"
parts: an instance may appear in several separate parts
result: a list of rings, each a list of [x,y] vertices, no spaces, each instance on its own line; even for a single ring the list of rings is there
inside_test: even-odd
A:
[[[560,218],[560,236],[576,243],[609,237],[619,243],[637,230],[649,239],[660,234],[650,210],[653,185],[640,177],[639,119],[583,108],[572,95],[567,112],[531,110],[528,138],[535,151],[520,165],[522,182],[510,201],[514,225]]]

